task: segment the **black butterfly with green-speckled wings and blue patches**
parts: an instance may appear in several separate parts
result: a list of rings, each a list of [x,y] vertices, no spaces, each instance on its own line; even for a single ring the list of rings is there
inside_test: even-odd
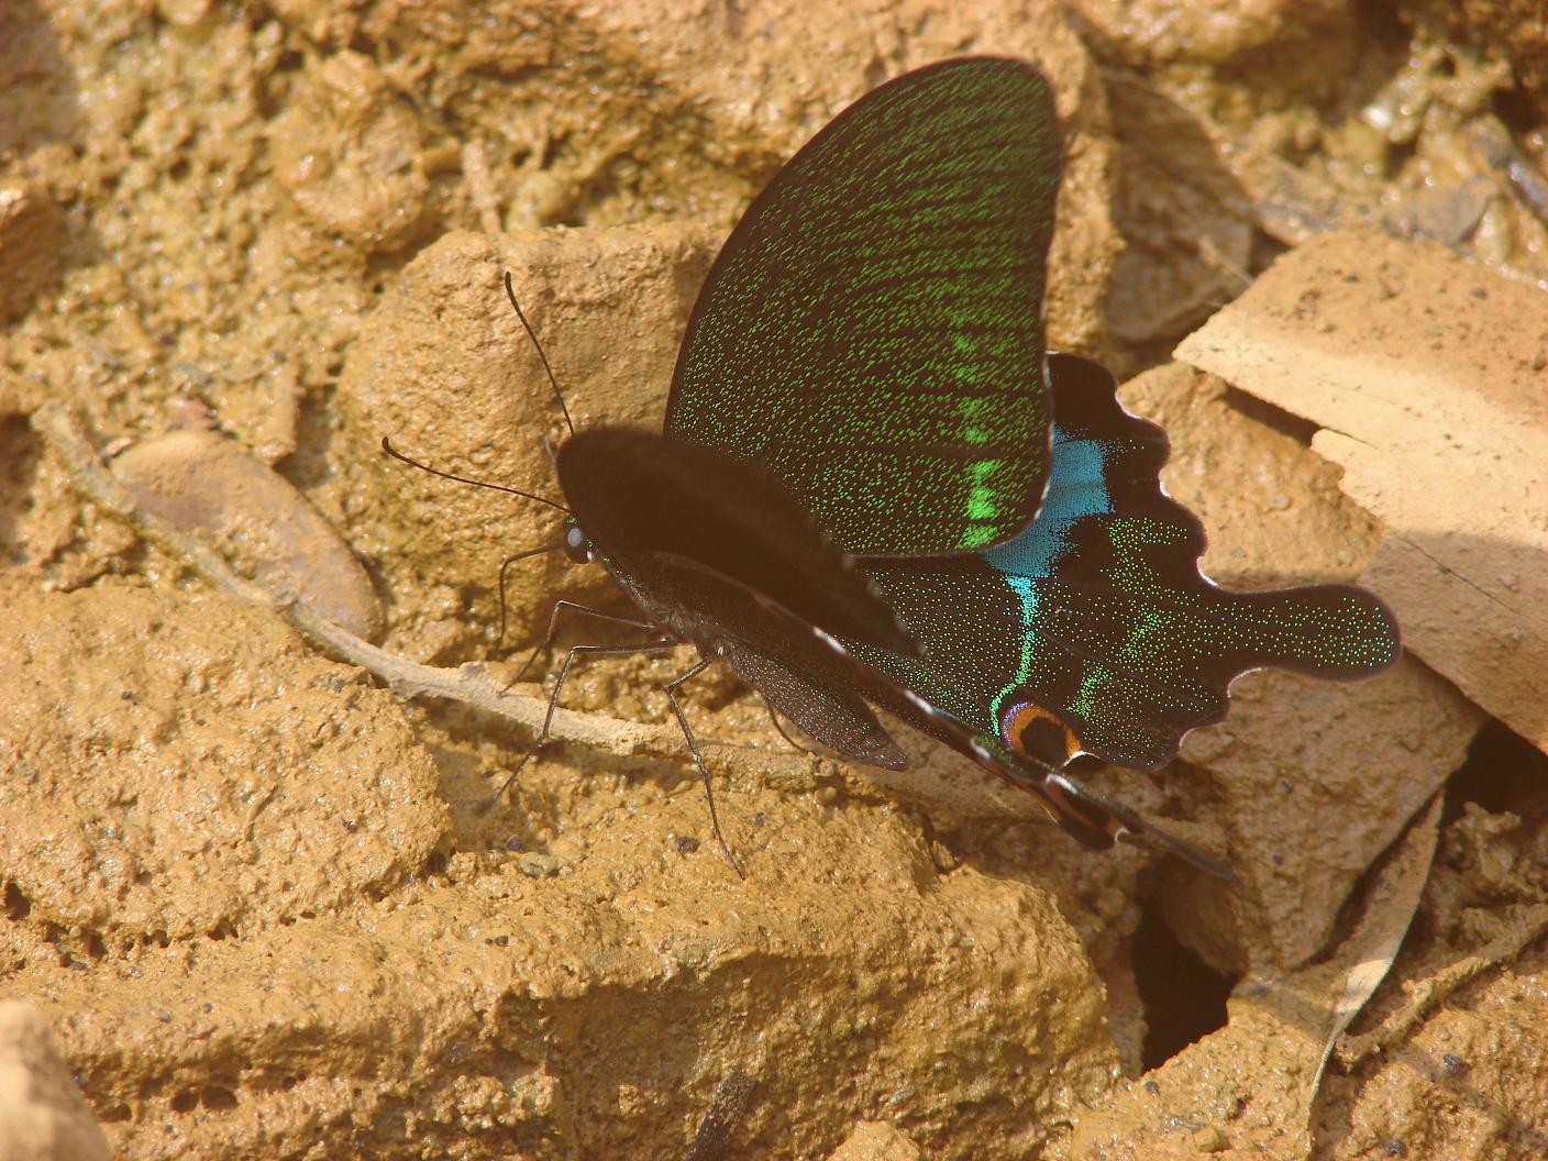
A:
[[[1398,628],[1351,585],[1200,573],[1203,529],[1156,478],[1164,432],[1101,365],[1045,350],[1059,170],[1023,62],[940,62],[844,110],[720,251],[664,429],[559,446],[563,546],[635,601],[641,649],[697,647],[667,694],[706,788],[676,689],[724,661],[847,759],[907,765],[879,707],[1088,845],[1149,836],[1231,878],[1071,762],[1153,769],[1241,672],[1365,676]]]

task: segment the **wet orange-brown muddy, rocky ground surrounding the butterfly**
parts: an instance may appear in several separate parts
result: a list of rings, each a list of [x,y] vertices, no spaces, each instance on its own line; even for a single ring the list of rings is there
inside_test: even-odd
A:
[[[1548,1156],[1543,36],[1525,0],[6,0],[0,1153]],[[669,745],[686,650],[584,669],[485,810],[539,684],[512,721],[410,666],[498,689],[557,598],[627,607],[536,557],[502,638],[556,514],[381,437],[554,495],[502,276],[577,424],[656,424],[748,198],[963,53],[1053,80],[1051,337],[1167,427],[1206,571],[1359,579],[1409,655],[1246,675],[1094,776],[1235,889],[906,732],[904,774],[793,751],[706,675],[741,879]],[[1255,373],[1297,334],[1351,395]],[[1330,402],[1421,381],[1488,384],[1500,440]],[[1416,539],[1416,480],[1494,483]]]

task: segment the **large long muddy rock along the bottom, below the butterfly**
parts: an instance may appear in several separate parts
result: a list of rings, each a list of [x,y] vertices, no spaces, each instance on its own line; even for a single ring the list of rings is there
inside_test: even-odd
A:
[[[59,1020],[124,1156],[680,1161],[734,1071],[734,1156],[825,1155],[878,1107],[929,1156],[1033,1156],[1111,1084],[1101,986],[1036,885],[768,791],[721,800],[743,882],[670,841],[703,833],[697,786],[599,782],[554,875],[467,853],[345,915],[142,949],[133,978],[12,938],[5,989]]]

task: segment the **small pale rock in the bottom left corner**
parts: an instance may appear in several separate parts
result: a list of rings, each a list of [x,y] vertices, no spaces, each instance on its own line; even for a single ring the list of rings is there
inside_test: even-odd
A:
[[[107,1161],[107,1138],[59,1059],[48,1020],[22,1000],[0,1002],[0,1156]]]

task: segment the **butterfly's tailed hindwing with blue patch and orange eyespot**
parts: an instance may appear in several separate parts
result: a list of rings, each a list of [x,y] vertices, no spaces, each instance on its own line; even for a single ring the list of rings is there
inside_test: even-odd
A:
[[[1396,659],[1392,615],[1365,590],[1234,593],[1204,579],[1203,529],[1156,478],[1166,435],[1124,412],[1096,364],[1051,356],[1050,368],[1037,520],[971,557],[862,562],[926,649],[854,642],[867,664],[1012,751],[1155,768],[1224,717],[1248,669],[1353,678]]]

